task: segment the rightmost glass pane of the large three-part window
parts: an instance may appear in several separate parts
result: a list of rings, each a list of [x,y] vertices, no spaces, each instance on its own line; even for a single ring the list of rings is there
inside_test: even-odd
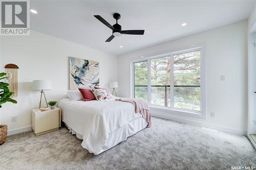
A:
[[[200,51],[174,55],[174,108],[200,111]]]

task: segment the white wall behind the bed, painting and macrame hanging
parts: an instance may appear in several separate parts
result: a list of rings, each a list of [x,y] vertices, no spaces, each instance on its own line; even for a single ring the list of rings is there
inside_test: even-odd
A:
[[[52,90],[46,91],[49,100],[59,100],[69,89],[69,58],[77,57],[100,63],[100,86],[117,81],[117,57],[87,46],[31,31],[30,36],[1,37],[1,68],[8,63],[18,65],[17,104],[6,103],[1,108],[1,124],[7,124],[9,134],[19,128],[30,129],[31,109],[37,108],[40,92],[32,91],[32,81],[52,81]],[[44,101],[42,101],[44,104]],[[11,116],[17,122],[10,122]],[[27,128],[26,128],[27,127]],[[15,131],[17,132],[17,131]]]

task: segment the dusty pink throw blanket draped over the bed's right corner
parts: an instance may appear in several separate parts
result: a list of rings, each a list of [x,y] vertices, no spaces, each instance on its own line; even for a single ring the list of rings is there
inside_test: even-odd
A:
[[[140,100],[140,99],[134,99],[134,98],[120,98],[116,99],[116,101],[121,101],[121,102],[128,102],[133,104],[135,108],[135,113],[140,113],[142,117],[146,120],[147,122],[147,128],[151,127],[151,113],[150,109],[148,108],[148,105],[145,101]]]

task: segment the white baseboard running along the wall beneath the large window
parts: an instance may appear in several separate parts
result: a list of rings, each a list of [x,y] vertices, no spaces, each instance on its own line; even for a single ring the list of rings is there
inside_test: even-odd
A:
[[[152,116],[155,116],[155,117],[161,117],[161,118],[166,118],[166,119],[170,119],[170,120],[175,120],[177,122],[182,122],[182,123],[186,123],[186,124],[190,124],[190,125],[194,125],[194,126],[198,126],[198,127],[211,128],[211,129],[216,129],[218,131],[247,136],[247,131],[243,131],[243,130],[239,130],[239,129],[233,129],[233,128],[228,128],[228,127],[223,127],[223,126],[218,126],[218,125],[201,123],[201,122],[197,122],[195,120],[174,117],[174,116],[170,116],[170,115],[166,115],[166,114],[159,114],[159,113],[154,113],[154,112],[151,114],[152,114]]]

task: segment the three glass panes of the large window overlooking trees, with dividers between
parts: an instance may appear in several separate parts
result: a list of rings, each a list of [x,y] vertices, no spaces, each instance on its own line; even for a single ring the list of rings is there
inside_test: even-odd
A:
[[[201,51],[197,48],[133,63],[134,97],[151,106],[201,113]]]

